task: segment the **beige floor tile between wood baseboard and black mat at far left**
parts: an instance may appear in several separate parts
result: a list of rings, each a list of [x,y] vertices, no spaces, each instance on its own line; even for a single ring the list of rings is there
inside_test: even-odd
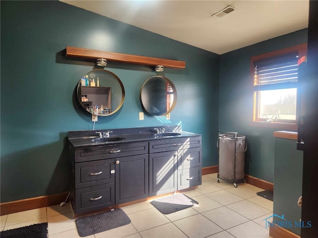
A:
[[[46,207],[8,214],[5,226],[46,218]]]

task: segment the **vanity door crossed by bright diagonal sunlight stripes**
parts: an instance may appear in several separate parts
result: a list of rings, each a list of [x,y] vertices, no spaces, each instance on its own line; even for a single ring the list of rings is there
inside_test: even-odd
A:
[[[149,196],[177,190],[177,152],[149,154]]]

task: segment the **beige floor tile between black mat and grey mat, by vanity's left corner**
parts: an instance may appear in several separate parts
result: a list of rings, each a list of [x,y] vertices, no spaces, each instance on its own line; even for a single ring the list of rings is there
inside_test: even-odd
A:
[[[76,229],[73,212],[48,217],[49,236]]]

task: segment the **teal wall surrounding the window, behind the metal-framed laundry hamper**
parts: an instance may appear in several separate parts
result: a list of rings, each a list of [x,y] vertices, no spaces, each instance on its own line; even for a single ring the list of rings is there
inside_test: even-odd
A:
[[[246,136],[245,174],[273,182],[274,137],[277,128],[251,126],[253,82],[250,57],[307,43],[307,29],[221,55],[219,128]]]

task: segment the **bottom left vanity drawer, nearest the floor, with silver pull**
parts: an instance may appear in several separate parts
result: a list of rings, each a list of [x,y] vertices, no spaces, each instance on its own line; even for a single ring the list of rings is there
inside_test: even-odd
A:
[[[115,183],[76,189],[77,214],[115,205]]]

